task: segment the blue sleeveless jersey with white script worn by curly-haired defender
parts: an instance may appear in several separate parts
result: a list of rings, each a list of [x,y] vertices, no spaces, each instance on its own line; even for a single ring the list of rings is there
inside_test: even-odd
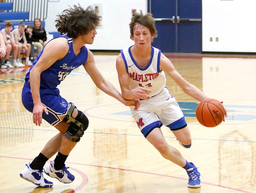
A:
[[[70,38],[69,36],[59,36],[57,38],[60,37],[67,38],[69,43],[69,51],[64,56],[64,58],[55,61],[55,63],[53,63],[49,68],[41,73],[40,88],[42,89],[55,89],[72,70],[78,68],[87,61],[88,51],[85,46],[82,47],[79,55],[75,56],[75,53],[73,51],[72,38]],[[37,58],[30,67],[29,72],[26,74],[25,81],[28,83],[30,70],[34,67],[34,65],[37,65],[36,63],[41,57],[43,50],[37,55]]]

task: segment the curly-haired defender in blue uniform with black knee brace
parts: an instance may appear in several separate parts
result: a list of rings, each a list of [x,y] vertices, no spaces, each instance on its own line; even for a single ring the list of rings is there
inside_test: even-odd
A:
[[[86,72],[99,89],[116,98],[127,106],[139,106],[139,100],[125,100],[115,87],[103,78],[97,69],[93,54],[84,45],[92,44],[96,27],[101,17],[91,6],[84,10],[80,5],[64,10],[58,15],[56,27],[60,36],[48,42],[37,55],[25,77],[22,90],[24,107],[33,112],[35,125],[42,123],[42,118],[59,130],[44,149],[31,162],[27,163],[20,176],[37,186],[51,187],[53,183],[43,177],[42,172],[57,178],[62,183],[71,183],[75,179],[65,166],[65,161],[88,127],[87,117],[59,95],[57,85],[69,73],[83,65]],[[45,163],[57,153],[56,158]]]

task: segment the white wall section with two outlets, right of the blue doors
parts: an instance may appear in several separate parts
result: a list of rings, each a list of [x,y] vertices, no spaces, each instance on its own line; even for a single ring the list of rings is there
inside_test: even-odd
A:
[[[202,0],[202,50],[256,52],[255,7],[255,0]]]

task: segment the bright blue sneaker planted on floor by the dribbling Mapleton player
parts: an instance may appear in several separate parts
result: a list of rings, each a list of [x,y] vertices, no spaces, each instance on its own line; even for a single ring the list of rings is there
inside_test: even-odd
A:
[[[187,169],[187,175],[189,175],[189,182],[187,183],[187,187],[190,188],[200,188],[201,181],[200,181],[200,173],[197,171],[197,167],[192,162],[189,162],[193,165],[193,168]]]

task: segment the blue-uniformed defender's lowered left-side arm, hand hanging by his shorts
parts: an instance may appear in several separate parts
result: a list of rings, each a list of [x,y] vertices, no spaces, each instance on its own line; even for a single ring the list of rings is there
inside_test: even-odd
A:
[[[60,49],[61,48],[61,49]],[[56,60],[63,58],[69,51],[69,45],[66,38],[57,38],[51,40],[44,48],[43,53],[35,66],[30,71],[30,88],[33,98],[33,123],[41,125],[43,111],[48,114],[47,109],[42,105],[39,88],[40,75],[49,68]]]

